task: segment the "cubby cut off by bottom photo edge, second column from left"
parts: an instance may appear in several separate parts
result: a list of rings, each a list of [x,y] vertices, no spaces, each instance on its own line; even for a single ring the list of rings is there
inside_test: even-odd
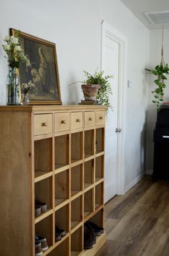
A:
[[[52,252],[49,252],[49,256],[69,256],[69,237],[64,239]]]

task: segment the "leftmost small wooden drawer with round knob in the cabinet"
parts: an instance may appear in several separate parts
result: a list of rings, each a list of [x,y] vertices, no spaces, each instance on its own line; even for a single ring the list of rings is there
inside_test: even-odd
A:
[[[34,115],[34,135],[52,133],[52,114]]]

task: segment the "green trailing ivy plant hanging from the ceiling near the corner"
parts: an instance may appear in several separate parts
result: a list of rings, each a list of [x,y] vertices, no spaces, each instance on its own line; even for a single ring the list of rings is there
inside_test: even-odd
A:
[[[160,110],[160,105],[163,102],[163,96],[164,96],[164,88],[165,88],[165,81],[168,79],[166,77],[166,74],[169,73],[168,64],[163,65],[163,63],[160,63],[160,65],[156,65],[155,69],[148,69],[145,68],[148,73],[152,73],[153,75],[157,76],[157,78],[153,81],[155,85],[157,86],[152,93],[154,94],[154,100],[152,101],[156,106],[158,111]]]

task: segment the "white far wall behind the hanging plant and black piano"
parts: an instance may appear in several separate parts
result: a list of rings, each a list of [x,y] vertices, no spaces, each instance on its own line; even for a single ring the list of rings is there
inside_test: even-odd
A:
[[[149,68],[155,68],[160,64],[161,60],[161,44],[162,44],[162,29],[150,30],[150,65]],[[169,64],[169,29],[164,29],[164,60]],[[155,76],[147,75],[149,99],[147,110],[147,127],[146,127],[146,172],[153,171],[153,129],[157,118],[155,104],[152,103],[153,94],[151,91],[155,88],[153,80]],[[169,76],[168,76],[169,79]],[[169,81],[166,82],[164,101],[169,101]]]

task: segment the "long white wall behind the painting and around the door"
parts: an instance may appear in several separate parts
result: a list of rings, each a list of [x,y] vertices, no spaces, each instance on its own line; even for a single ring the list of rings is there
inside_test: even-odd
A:
[[[144,170],[145,111],[148,86],[149,32],[119,0],[15,0],[1,1],[0,44],[9,27],[55,42],[63,104],[82,98],[82,70],[100,68],[101,22],[105,19],[127,37],[127,78],[134,82],[126,90],[125,186],[130,188]],[[2,25],[3,24],[3,25]],[[0,104],[6,104],[7,63],[0,48]]]

